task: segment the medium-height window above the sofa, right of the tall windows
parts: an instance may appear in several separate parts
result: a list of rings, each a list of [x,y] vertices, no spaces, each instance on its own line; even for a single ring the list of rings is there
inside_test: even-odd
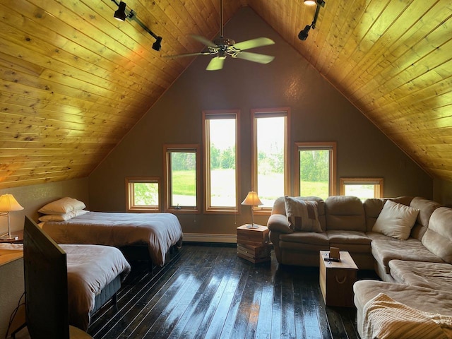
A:
[[[333,196],[335,185],[336,143],[295,143],[297,148],[297,175],[295,194]]]

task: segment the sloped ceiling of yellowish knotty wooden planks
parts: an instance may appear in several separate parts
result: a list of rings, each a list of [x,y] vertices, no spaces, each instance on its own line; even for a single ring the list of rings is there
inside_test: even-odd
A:
[[[219,0],[0,0],[0,189],[86,177],[215,37]],[[251,6],[433,177],[452,181],[452,2],[225,0]]]

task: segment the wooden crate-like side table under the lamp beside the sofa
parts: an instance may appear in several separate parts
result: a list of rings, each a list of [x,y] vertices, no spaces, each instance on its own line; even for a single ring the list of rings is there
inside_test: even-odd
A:
[[[237,227],[237,256],[240,258],[251,263],[271,261],[271,248],[266,226],[251,228],[251,225],[246,224]]]

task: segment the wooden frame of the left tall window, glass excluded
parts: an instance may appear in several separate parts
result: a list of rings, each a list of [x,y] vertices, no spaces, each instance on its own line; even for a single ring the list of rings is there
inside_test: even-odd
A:
[[[206,142],[208,138],[208,125],[206,124],[210,119],[234,119],[235,120],[235,206],[211,206],[210,204],[210,149],[208,149]],[[240,213],[241,207],[239,202],[240,194],[240,110],[239,109],[218,109],[218,110],[203,110],[202,112],[202,126],[203,126],[203,213],[205,214],[232,214]]]

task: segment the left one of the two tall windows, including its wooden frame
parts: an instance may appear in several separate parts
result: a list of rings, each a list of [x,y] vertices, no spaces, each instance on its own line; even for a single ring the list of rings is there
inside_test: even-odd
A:
[[[239,111],[203,112],[205,212],[236,213]]]

